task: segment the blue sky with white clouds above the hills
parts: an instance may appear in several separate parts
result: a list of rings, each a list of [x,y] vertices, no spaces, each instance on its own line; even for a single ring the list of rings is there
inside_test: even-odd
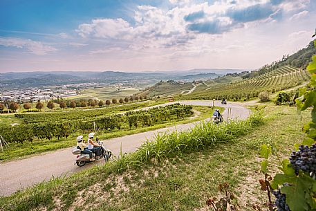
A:
[[[0,72],[254,70],[315,20],[315,0],[1,0]]]

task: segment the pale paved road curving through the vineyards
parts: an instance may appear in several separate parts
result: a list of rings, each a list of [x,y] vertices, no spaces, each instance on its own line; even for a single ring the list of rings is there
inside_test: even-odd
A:
[[[171,103],[174,102],[162,105]],[[203,106],[212,105],[212,101],[183,101],[180,103]],[[221,102],[215,102],[214,105],[221,106]],[[231,108],[231,115],[229,118],[245,119],[250,114],[250,110],[243,107],[242,104],[229,103],[223,107]],[[223,112],[224,120],[227,120],[228,114],[230,113],[228,112],[229,110],[230,109],[225,109]],[[193,127],[194,125],[194,123],[189,123],[185,125],[177,125],[176,127],[158,129],[156,131],[148,131],[120,138],[112,138],[105,140],[104,144],[107,148],[111,149],[115,156],[118,156],[121,146],[123,153],[135,152],[145,140],[152,139],[158,132],[173,131],[174,129],[183,131]],[[72,149],[73,147],[61,149],[57,152],[46,153],[23,160],[10,161],[8,163],[0,164],[0,196],[8,196],[24,187],[29,187],[41,181],[48,181],[52,176],[68,176],[75,172],[80,172],[82,169],[92,167],[95,164],[101,165],[104,163],[104,160],[101,159],[95,163],[85,165],[84,167],[77,167],[77,165],[75,165],[75,156],[71,154]]]

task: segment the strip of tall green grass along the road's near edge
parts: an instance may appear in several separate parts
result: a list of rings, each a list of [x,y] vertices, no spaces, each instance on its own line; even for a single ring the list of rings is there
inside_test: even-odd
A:
[[[93,167],[73,174],[68,178],[55,178],[35,187],[27,188],[8,197],[0,198],[0,210],[30,210],[44,206],[50,210],[54,207],[53,198],[62,196],[62,210],[68,210],[75,200],[77,192],[91,184],[104,181],[109,174],[124,172],[131,167],[143,167],[151,162],[203,149],[207,146],[220,146],[235,138],[248,134],[263,123],[262,113],[253,113],[243,121],[232,120],[229,123],[214,125],[201,122],[189,131],[173,131],[157,134],[154,140],[147,140],[136,152],[120,154],[111,163],[102,167]],[[86,179],[89,178],[89,181]]]

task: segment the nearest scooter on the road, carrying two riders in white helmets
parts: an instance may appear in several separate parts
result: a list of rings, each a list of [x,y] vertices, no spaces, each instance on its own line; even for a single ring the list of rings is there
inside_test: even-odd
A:
[[[106,149],[103,145],[103,141],[97,141],[97,143],[101,146],[102,154],[95,155],[93,153],[93,156],[95,157],[95,160],[100,160],[101,158],[104,158],[105,161],[109,161],[109,159],[112,156],[112,152],[109,149]],[[77,147],[73,149],[73,154],[77,155],[76,162],[77,166],[82,167],[86,165],[86,163],[94,162],[95,160],[90,160],[89,154],[82,154],[81,150]]]

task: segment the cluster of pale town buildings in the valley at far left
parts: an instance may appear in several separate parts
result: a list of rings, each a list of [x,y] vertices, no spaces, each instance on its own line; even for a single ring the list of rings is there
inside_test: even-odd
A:
[[[37,100],[50,100],[52,98],[66,98],[77,95],[73,89],[27,89],[5,91],[0,93],[0,100],[15,100],[23,102],[35,102]]]

